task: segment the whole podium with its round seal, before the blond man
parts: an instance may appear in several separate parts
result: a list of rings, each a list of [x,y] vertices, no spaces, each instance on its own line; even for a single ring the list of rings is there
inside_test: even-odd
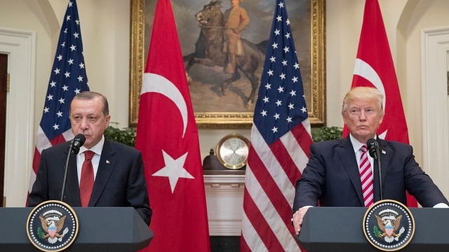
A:
[[[363,207],[311,207],[298,238],[308,252],[449,251],[449,209],[392,200]]]

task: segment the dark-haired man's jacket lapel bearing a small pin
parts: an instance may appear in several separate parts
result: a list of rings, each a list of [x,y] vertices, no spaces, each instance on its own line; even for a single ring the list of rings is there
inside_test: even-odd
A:
[[[97,175],[95,176],[95,183],[93,184],[93,190],[91,195],[91,201],[89,202],[89,207],[94,207],[97,203],[100,195],[107,185],[107,181],[114,170],[115,159],[113,155],[115,154],[114,149],[110,141],[105,139],[105,144],[100,157],[100,164],[98,164]]]

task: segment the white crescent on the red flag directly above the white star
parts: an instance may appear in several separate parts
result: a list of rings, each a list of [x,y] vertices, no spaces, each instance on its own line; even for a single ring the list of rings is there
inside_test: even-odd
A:
[[[163,94],[168,99],[172,100],[176,104],[177,109],[180,110],[182,117],[182,137],[184,137],[185,130],[187,129],[187,104],[180,90],[177,89],[176,85],[173,84],[167,78],[160,76],[156,73],[145,73],[142,83],[142,92],[140,94],[145,94],[146,92],[156,92]]]

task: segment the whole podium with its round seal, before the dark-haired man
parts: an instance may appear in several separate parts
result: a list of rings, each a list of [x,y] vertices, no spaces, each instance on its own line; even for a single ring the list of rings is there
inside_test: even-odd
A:
[[[0,208],[0,251],[138,251],[153,233],[133,207]]]

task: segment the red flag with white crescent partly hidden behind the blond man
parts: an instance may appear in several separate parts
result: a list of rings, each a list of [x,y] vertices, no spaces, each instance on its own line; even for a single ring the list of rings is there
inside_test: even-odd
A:
[[[376,87],[384,94],[385,116],[377,134],[381,139],[408,144],[406,116],[404,116],[396,71],[377,0],[365,2],[351,85],[351,88],[354,87]],[[347,134],[349,130],[344,126],[343,137]],[[408,207],[417,207],[417,201],[410,195],[408,195]]]

